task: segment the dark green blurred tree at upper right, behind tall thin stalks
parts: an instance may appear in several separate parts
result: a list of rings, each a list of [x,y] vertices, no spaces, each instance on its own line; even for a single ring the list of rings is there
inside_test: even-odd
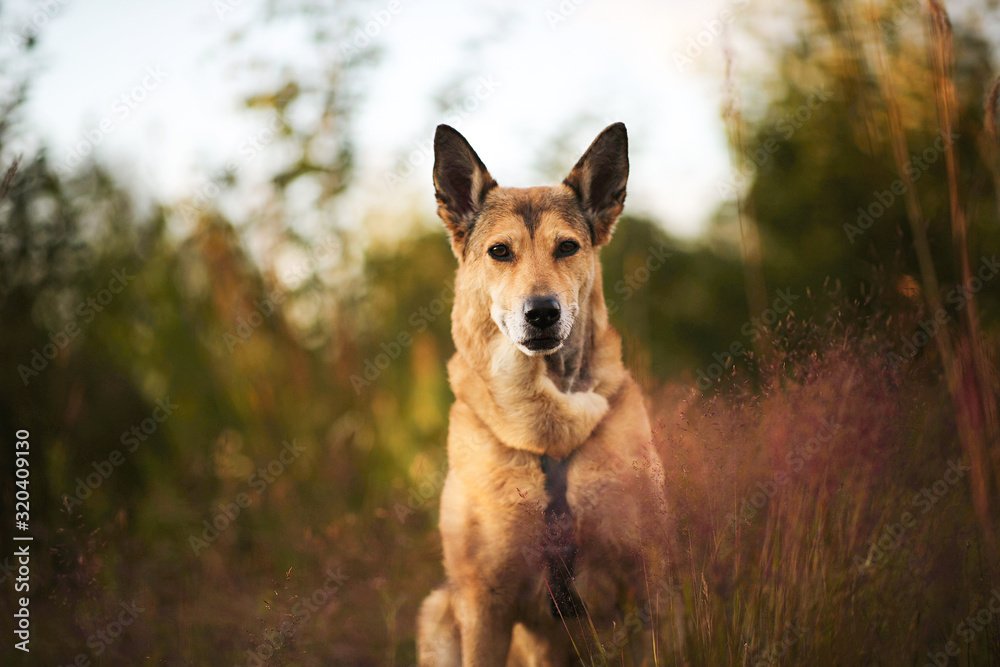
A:
[[[905,184],[892,157],[887,103],[876,80],[877,40],[889,49],[894,101],[910,153],[905,168],[927,221],[940,282],[950,288],[961,277],[951,244],[945,141],[957,152],[971,247],[986,251],[1000,242],[990,163],[979,141],[984,96],[996,76],[990,43],[977,25],[954,25],[958,124],[955,136],[945,138],[922,6],[879,4],[882,15],[875,25],[860,23],[851,3],[806,7],[807,20],[797,24],[797,35],[771,54],[778,67],[769,82],[773,92],[739,156],[740,172],[750,178],[747,199],[760,229],[767,283],[772,289],[817,290],[835,278],[849,294],[865,283],[898,294],[914,284],[907,276],[919,275]],[[734,184],[729,192],[736,190]],[[738,238],[728,227],[732,223],[731,215],[719,215],[714,234],[725,229]],[[982,295],[993,312],[995,294]]]

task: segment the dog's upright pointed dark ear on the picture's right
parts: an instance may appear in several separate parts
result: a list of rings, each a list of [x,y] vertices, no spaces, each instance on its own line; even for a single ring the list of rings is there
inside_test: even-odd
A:
[[[625,206],[627,180],[628,132],[624,123],[615,123],[597,135],[563,181],[583,208],[595,246],[611,240],[611,230]]]

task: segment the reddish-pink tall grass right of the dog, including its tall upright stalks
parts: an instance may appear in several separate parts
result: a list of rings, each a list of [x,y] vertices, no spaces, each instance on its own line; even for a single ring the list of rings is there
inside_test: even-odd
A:
[[[908,313],[838,297],[823,319],[789,316],[762,346],[753,388],[737,375],[710,398],[667,388],[654,400],[678,521],[665,616],[681,628],[658,629],[660,664],[1000,664],[1000,615],[983,612],[1000,590],[997,340],[984,335],[970,295],[960,320],[928,333],[912,358],[898,354],[918,322],[943,312],[943,289],[905,167],[910,151],[877,9],[861,18],[838,8],[845,24],[868,27],[846,42],[877,82],[884,120],[869,126],[887,125],[906,186],[919,288]],[[926,9],[939,129],[950,136],[958,108],[951,26],[937,0]],[[981,145],[1000,184],[998,91],[1000,83],[988,95]],[[735,102],[725,117],[741,155]],[[969,285],[957,159],[949,144],[951,239]],[[741,196],[747,281],[761,286],[752,210]]]

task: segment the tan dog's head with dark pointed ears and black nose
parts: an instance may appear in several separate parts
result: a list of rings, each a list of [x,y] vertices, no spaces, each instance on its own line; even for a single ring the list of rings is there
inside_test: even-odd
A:
[[[597,250],[625,202],[628,135],[607,127],[561,185],[501,188],[461,134],[434,137],[438,215],[460,271],[528,355],[562,347],[598,276]]]

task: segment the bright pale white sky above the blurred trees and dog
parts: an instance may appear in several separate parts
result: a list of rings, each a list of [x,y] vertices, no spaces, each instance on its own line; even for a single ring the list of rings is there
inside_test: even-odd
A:
[[[568,172],[601,129],[621,120],[630,136],[626,210],[696,235],[730,178],[721,117],[730,40],[721,19],[738,23],[747,5],[352,3],[383,55],[361,87],[351,196],[383,218],[414,207],[432,216],[428,146],[439,122],[470,140],[501,185],[526,186],[558,181],[553,163]],[[267,173],[267,160],[246,150],[268,130],[266,118],[242,107],[261,82],[241,62],[319,64],[305,23],[233,42],[261,9],[257,0],[22,0],[0,13],[0,54],[41,26],[26,119],[53,162],[71,167],[93,151],[144,196],[172,202],[202,191],[227,161],[245,159],[251,180]],[[442,112],[435,99],[446,90],[457,91],[457,103]],[[557,142],[565,155],[551,152]]]

